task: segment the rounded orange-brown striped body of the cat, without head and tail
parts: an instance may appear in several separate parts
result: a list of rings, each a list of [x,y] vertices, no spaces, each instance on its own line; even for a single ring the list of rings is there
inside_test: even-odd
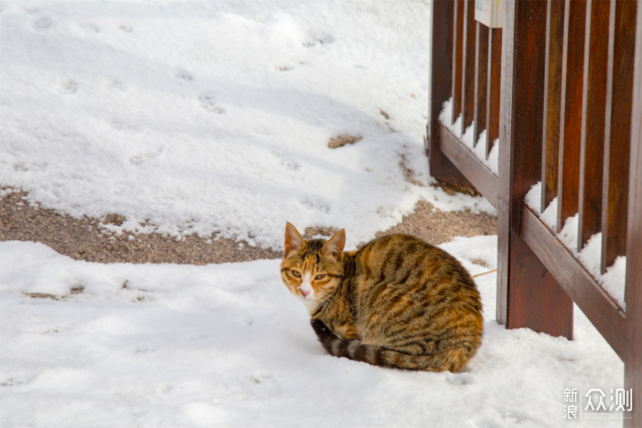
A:
[[[367,243],[355,257],[355,308],[365,342],[390,346],[399,341],[394,330],[403,331],[407,342],[481,337],[480,294],[448,252],[414,236],[389,235]]]

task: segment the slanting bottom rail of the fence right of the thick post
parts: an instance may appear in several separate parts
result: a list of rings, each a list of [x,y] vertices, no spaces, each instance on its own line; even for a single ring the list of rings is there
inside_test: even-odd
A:
[[[525,203],[522,209],[520,234],[546,268],[556,277],[564,291],[577,303],[584,315],[623,360],[625,347],[623,310]]]

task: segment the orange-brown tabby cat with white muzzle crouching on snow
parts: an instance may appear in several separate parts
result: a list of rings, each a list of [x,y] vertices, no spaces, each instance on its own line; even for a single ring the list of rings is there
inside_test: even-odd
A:
[[[453,373],[481,345],[481,300],[446,251],[390,235],[343,251],[345,231],[304,240],[287,223],[281,278],[325,350],[374,366]]]

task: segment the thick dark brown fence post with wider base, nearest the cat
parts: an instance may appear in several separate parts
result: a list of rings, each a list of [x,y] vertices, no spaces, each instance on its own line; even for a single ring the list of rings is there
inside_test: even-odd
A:
[[[541,176],[547,3],[504,6],[497,320],[572,339],[572,300],[519,235],[523,197]]]

